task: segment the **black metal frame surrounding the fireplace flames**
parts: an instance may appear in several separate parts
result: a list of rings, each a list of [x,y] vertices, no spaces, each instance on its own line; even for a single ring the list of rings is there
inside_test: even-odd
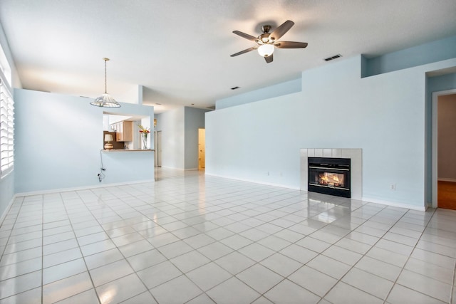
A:
[[[307,191],[351,198],[351,159],[336,157],[308,157]],[[343,187],[318,184],[321,172],[343,174]]]

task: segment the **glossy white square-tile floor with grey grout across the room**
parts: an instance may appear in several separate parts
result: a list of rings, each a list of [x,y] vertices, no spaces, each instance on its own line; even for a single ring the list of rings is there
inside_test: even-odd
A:
[[[456,211],[157,177],[18,197],[0,303],[456,303]]]

